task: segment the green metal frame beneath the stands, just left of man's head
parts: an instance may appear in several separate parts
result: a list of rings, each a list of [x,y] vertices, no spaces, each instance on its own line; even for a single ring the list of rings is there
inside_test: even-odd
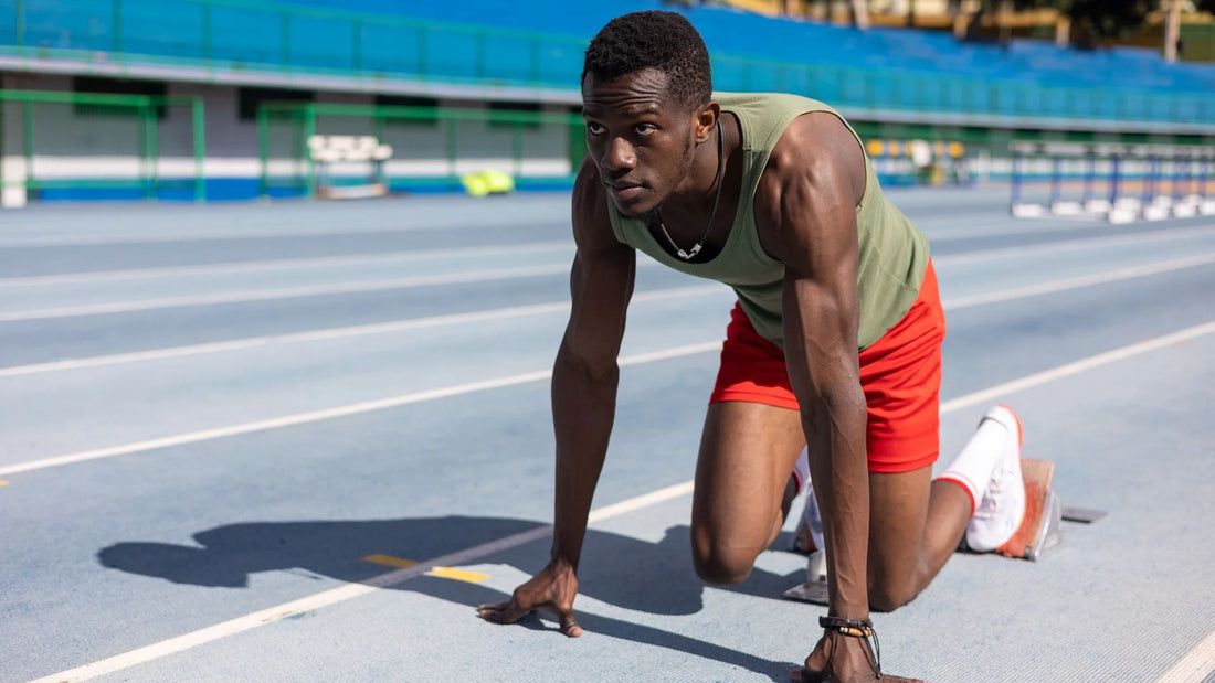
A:
[[[317,165],[309,150],[307,141],[313,135],[324,135],[333,130],[343,133],[351,133],[358,129],[361,135],[373,135],[377,140],[386,140],[385,131],[394,121],[412,121],[441,126],[443,130],[426,132],[425,135],[441,136],[443,140],[443,160],[446,161],[446,173],[442,177],[408,177],[389,176],[388,180],[411,180],[414,184],[440,184],[445,187],[458,187],[459,173],[457,164],[462,154],[462,135],[459,124],[473,123],[485,124],[482,130],[476,131],[480,141],[495,137],[509,136],[512,175],[516,181],[527,180],[524,172],[524,160],[529,158],[525,135],[529,130],[543,127],[541,133],[550,140],[565,140],[565,148],[569,167],[571,172],[561,180],[572,181],[586,154],[582,137],[583,121],[577,114],[564,114],[553,112],[512,112],[493,109],[471,109],[456,107],[397,107],[374,104],[326,104],[316,102],[265,102],[258,109],[258,154],[261,163],[260,194],[269,195],[270,188],[276,184],[276,178],[271,172],[273,159],[286,159],[299,169],[286,180],[288,187],[299,188],[309,198],[317,194]],[[287,135],[275,135],[276,125],[286,126]],[[361,126],[361,127],[360,127]],[[560,131],[560,136],[558,136]],[[549,133],[553,133],[552,136]],[[273,149],[273,140],[286,142],[288,150],[279,153]],[[467,143],[464,143],[467,144]],[[401,149],[408,159],[409,150]]]

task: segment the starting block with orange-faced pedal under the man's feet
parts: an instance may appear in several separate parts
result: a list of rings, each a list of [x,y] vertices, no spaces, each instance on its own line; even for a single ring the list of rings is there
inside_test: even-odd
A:
[[[1025,517],[1012,539],[996,548],[995,553],[1036,562],[1061,545],[1063,522],[1091,524],[1106,516],[1100,510],[1062,506],[1051,488],[1055,478],[1053,462],[1025,457],[1021,461],[1021,468],[1025,480]],[[957,550],[970,551],[965,535]],[[807,559],[806,581],[782,594],[793,601],[827,604],[826,551],[813,551]]]

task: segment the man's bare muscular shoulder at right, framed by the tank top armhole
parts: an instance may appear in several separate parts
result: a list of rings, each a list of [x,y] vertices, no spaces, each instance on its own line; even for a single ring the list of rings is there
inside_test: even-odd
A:
[[[840,116],[810,112],[793,119],[776,142],[756,188],[755,216],[764,249],[804,246],[812,229],[830,229],[841,210],[865,194],[865,155]]]

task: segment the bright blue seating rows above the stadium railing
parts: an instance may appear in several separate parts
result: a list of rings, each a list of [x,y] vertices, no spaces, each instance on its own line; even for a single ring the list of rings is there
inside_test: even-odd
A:
[[[634,10],[669,8],[656,1],[582,4],[533,0],[502,12],[501,2],[402,4],[392,0],[296,0],[298,5],[357,7],[360,11],[406,15],[414,18],[542,30],[589,38],[611,17]],[[689,11],[712,50],[781,62],[860,66],[1036,82],[1046,86],[1165,89],[1209,93],[1215,69],[1196,64],[1166,64],[1151,50],[1114,49],[1097,52],[1062,50],[1051,42],[1018,40],[1007,47],[961,44],[948,33],[848,27],[791,21],[739,12],[724,7]]]

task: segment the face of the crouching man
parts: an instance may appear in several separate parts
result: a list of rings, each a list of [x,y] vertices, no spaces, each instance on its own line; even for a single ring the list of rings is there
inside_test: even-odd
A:
[[[582,82],[587,150],[621,214],[652,216],[688,178],[695,154],[690,113],[667,93],[667,76],[643,69]]]

